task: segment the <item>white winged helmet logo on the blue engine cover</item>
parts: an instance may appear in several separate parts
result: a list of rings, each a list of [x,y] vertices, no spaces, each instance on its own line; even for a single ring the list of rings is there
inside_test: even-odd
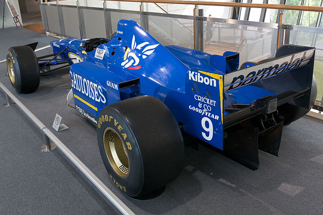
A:
[[[135,41],[135,35],[133,35],[132,42],[131,42],[131,49],[129,47],[127,48],[125,55],[123,57],[124,61],[121,63],[121,65],[125,66],[125,68],[128,68],[128,69],[141,68],[141,65],[138,65],[140,58],[142,57],[143,59],[145,59],[148,55],[150,55],[155,50],[155,48],[158,45],[159,44],[149,45],[149,42],[143,42],[137,45]],[[135,50],[135,49],[142,50],[141,53],[138,54],[138,56],[135,54],[135,52],[131,52],[131,50]]]

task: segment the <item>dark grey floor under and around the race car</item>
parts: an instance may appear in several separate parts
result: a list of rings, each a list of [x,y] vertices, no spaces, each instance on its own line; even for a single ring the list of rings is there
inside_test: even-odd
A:
[[[8,34],[8,35],[7,35]],[[26,29],[0,31],[0,56],[11,44],[54,38]],[[27,35],[27,36],[26,36]],[[40,47],[39,46],[39,47]],[[44,54],[49,50],[43,51]],[[2,53],[2,54],[1,54]],[[201,145],[185,149],[181,175],[156,198],[125,196],[109,179],[102,164],[95,129],[66,106],[70,90],[68,69],[41,77],[39,89],[17,94],[0,64],[0,82],[13,92],[66,146],[137,214],[322,214],[322,121],[303,117],[284,127],[279,157],[259,151],[260,167],[251,171]],[[5,98],[0,93],[0,103]],[[55,114],[70,128],[51,128]],[[56,150],[40,153],[41,133],[17,108],[0,107],[0,212],[7,213],[116,213],[99,191]],[[167,170],[165,170],[167,171]]]

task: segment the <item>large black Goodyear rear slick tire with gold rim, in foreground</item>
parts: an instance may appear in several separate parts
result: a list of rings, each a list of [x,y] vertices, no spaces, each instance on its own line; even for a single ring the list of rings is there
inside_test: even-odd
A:
[[[177,121],[154,97],[134,97],[102,109],[97,140],[112,182],[129,196],[160,190],[183,169],[184,142]]]

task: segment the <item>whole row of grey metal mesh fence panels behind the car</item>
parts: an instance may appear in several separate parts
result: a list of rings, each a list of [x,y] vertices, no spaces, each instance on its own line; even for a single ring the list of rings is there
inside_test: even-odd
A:
[[[61,33],[62,23],[64,36],[80,37],[78,9],[75,6],[59,6],[62,20],[59,18],[56,5],[43,4],[42,19],[45,30]],[[138,11],[107,9],[108,20],[104,19],[102,8],[81,7],[83,32],[87,38],[106,37],[106,31],[111,34],[117,31],[119,20],[134,20],[139,25]],[[44,17],[46,16],[46,17]],[[179,45],[194,48],[193,16],[174,14],[147,13],[144,14],[147,30],[162,45]],[[245,61],[259,61],[274,56],[277,48],[277,26],[263,23],[246,23],[239,21],[225,23],[220,19],[202,19],[202,50],[210,54],[222,55],[225,51],[240,53],[240,64]],[[207,21],[206,21],[207,20]],[[110,29],[105,29],[109,23]],[[110,26],[111,23],[111,26]],[[290,26],[289,37],[285,43],[311,46],[316,48],[314,76],[317,82],[316,105],[323,107],[323,31],[319,28]],[[198,30],[199,31],[199,30]],[[286,35],[285,35],[286,36]],[[287,40],[286,40],[287,38]]]

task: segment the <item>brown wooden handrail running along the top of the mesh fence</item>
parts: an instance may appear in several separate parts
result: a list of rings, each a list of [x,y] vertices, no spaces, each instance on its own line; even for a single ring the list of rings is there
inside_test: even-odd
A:
[[[120,2],[120,0],[104,0],[104,1]],[[292,10],[292,11],[323,12],[323,7],[318,7],[318,6],[299,6],[299,5],[252,4],[252,3],[231,3],[231,2],[173,1],[173,0],[122,0],[122,2],[161,3],[161,4],[178,4],[178,5],[206,5],[206,6],[238,7],[238,8],[265,8],[265,9]]]

